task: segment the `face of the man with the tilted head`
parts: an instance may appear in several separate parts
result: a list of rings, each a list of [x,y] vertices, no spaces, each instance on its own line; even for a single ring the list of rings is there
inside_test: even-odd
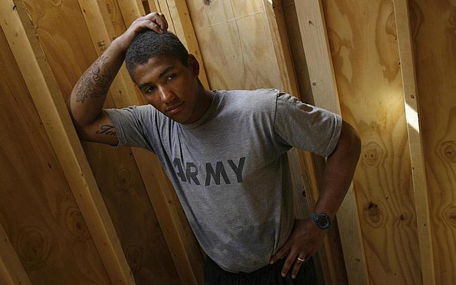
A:
[[[134,69],[133,80],[157,110],[179,123],[191,123],[203,113],[198,103],[202,93],[198,72],[198,63],[191,55],[188,67],[178,59],[153,57]]]

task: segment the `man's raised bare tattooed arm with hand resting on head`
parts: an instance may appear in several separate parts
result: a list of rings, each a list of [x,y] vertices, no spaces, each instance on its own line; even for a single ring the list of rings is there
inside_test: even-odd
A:
[[[109,87],[125,60],[128,47],[144,29],[162,33],[168,29],[168,24],[164,16],[156,12],[136,19],[82,74],[74,86],[67,107],[81,139],[117,144],[114,126],[108,115],[101,110]],[[103,131],[107,127],[110,128],[109,132]]]

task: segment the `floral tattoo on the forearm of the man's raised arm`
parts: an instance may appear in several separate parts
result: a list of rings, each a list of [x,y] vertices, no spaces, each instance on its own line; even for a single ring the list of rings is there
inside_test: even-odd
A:
[[[84,103],[87,97],[98,98],[106,95],[113,78],[108,69],[108,58],[100,56],[76,83],[76,102]]]

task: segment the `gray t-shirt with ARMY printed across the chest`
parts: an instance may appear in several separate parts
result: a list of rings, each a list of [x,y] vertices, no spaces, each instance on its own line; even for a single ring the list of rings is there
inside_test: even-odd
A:
[[[327,157],[341,117],[275,89],[212,91],[196,122],[151,105],[106,109],[118,146],[154,152],[206,254],[230,272],[268,264],[294,222],[287,151]]]

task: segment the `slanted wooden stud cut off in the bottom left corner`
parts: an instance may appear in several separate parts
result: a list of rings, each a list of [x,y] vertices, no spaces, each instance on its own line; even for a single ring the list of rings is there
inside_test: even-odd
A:
[[[0,284],[32,284],[0,223]]]

